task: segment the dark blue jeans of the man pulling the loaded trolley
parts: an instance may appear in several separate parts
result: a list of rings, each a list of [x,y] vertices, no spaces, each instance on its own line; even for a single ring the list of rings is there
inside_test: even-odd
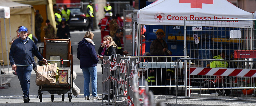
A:
[[[33,66],[17,66],[16,72],[21,83],[23,98],[29,98],[30,76]]]

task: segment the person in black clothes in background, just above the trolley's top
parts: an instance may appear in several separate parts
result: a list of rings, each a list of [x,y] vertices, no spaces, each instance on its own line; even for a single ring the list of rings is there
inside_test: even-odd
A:
[[[62,19],[57,30],[57,37],[59,39],[68,39],[70,36],[69,25],[66,23],[66,19]]]

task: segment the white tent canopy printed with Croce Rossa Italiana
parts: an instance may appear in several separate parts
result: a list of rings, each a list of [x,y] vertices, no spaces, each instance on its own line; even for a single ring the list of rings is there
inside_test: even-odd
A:
[[[143,25],[183,26],[183,18],[188,20],[252,19],[253,14],[234,6],[227,0],[157,0],[138,12],[138,23]],[[230,22],[226,24],[230,27]],[[236,24],[241,23],[239,21]],[[241,25],[243,25],[241,27],[248,26],[244,23]],[[249,26],[252,26],[252,23]]]

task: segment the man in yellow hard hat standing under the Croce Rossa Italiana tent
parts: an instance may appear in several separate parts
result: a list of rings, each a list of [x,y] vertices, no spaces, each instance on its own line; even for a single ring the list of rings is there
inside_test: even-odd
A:
[[[165,32],[162,29],[158,29],[155,34],[157,36],[157,39],[155,39],[150,45],[150,54],[153,56],[171,55],[172,53],[168,50],[167,43],[163,40]],[[171,58],[153,58],[153,62],[171,62]],[[170,83],[166,83],[166,79],[171,79],[171,76],[167,76],[167,73],[172,73],[171,69],[153,68],[151,70],[152,74],[148,75],[147,78],[149,85],[170,85]],[[165,95],[165,89],[165,87],[158,87],[157,89],[150,88],[154,95]]]

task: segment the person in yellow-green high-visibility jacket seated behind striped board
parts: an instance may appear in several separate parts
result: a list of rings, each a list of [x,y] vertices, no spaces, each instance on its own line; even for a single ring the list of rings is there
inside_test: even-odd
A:
[[[214,51],[215,56],[213,57],[213,59],[215,59],[215,60],[220,60],[220,59],[225,59],[226,58],[226,54],[225,54],[224,51],[222,51],[220,55],[216,55],[216,54],[217,54],[217,51],[215,50]],[[211,61],[210,68],[227,68],[228,65],[229,64],[226,61]],[[224,76],[217,76],[217,77],[218,77],[218,80],[217,80],[217,84],[215,85],[215,87],[229,87],[228,84],[224,84],[222,86],[222,84],[225,80]],[[226,80],[229,80],[229,78],[226,77]],[[211,86],[211,87],[213,87],[213,86]],[[218,91],[219,90],[217,90],[216,92],[215,92],[215,90],[209,90],[208,93],[213,94],[213,93],[218,93]],[[223,90],[220,90],[220,91],[222,92]],[[224,90],[224,92],[225,92],[224,96],[229,96],[229,94],[231,93],[230,90]]]

